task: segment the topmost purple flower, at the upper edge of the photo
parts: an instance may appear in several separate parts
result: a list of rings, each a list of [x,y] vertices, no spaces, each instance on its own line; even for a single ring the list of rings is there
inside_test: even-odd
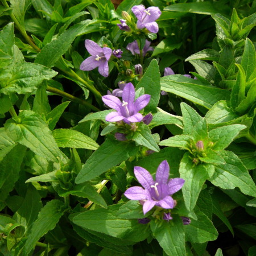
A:
[[[146,27],[151,33],[158,32],[158,23],[155,22],[161,15],[158,7],[151,6],[145,9],[143,5],[135,5],[131,10],[138,19],[137,27],[139,29]]]

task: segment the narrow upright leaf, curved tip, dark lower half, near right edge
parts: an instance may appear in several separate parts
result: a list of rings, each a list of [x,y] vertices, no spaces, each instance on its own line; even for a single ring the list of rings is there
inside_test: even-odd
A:
[[[237,81],[232,88],[230,105],[235,109],[242,100],[245,99],[245,86],[246,86],[246,74],[240,64],[236,64],[238,67]]]

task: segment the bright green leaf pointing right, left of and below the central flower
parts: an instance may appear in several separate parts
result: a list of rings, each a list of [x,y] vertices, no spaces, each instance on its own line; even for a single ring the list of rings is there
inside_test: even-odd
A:
[[[97,150],[98,143],[90,137],[71,129],[56,129],[52,132],[58,147],[85,148]]]

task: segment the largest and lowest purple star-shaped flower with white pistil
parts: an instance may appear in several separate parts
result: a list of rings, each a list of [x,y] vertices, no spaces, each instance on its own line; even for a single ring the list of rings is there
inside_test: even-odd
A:
[[[125,191],[125,196],[130,200],[139,200],[143,203],[143,213],[146,214],[155,205],[164,209],[175,207],[175,201],[171,195],[181,189],[185,180],[180,178],[168,179],[170,167],[167,160],[159,164],[154,181],[150,172],[135,166],[134,174],[142,187],[131,187]]]

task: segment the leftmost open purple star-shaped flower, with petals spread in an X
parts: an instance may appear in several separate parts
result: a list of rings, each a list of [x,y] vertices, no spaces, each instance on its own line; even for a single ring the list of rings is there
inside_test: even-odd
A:
[[[101,76],[108,77],[108,61],[112,55],[112,49],[108,47],[101,48],[97,43],[88,39],[85,40],[85,48],[92,56],[82,61],[80,69],[82,71],[90,71],[94,68],[98,68],[98,72]]]

